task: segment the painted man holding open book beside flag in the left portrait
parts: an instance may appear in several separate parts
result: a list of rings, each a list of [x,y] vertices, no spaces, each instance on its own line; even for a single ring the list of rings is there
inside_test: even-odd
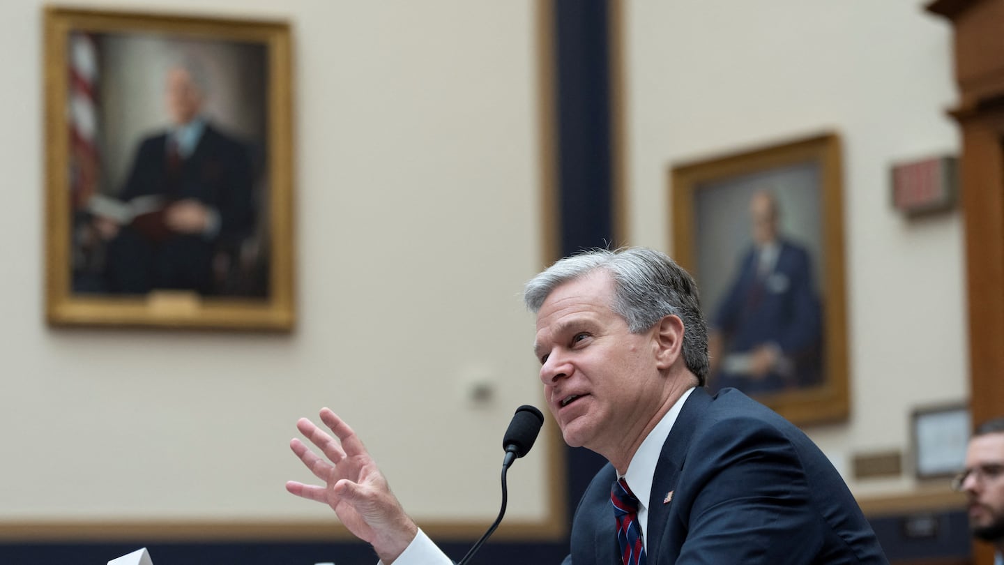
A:
[[[108,242],[105,277],[112,293],[213,294],[217,253],[235,249],[253,227],[247,148],[202,115],[205,97],[205,77],[194,61],[168,72],[173,125],[142,142],[118,195],[135,209],[126,218],[98,214],[95,220]]]

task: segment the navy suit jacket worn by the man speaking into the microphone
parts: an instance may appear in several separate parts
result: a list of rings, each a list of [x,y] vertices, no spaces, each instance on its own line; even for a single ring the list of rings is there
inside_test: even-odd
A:
[[[579,502],[565,565],[620,565],[615,479],[605,465]],[[656,467],[647,535],[650,565],[889,563],[819,448],[735,389],[698,388],[684,403]]]

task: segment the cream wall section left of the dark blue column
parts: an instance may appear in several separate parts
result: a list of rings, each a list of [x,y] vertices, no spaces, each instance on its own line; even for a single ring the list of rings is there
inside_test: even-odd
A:
[[[502,433],[516,406],[541,405],[520,302],[542,261],[532,4],[79,4],[289,21],[299,324],[45,326],[43,3],[4,4],[0,48],[20,62],[0,87],[0,521],[326,518],[283,487],[312,479],[287,444],[321,406],[420,519],[493,518]],[[495,399],[467,402],[472,381]],[[546,460],[514,466],[511,519],[545,512]]]

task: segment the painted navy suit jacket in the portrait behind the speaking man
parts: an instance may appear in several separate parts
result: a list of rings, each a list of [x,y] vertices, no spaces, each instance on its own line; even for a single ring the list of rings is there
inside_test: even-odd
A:
[[[712,321],[728,340],[728,352],[745,353],[773,344],[795,365],[794,384],[811,385],[821,380],[821,315],[812,282],[812,263],[805,248],[780,241],[777,261],[765,276],[757,277],[758,251],[743,256],[739,274]],[[779,375],[768,375],[758,383],[718,375],[721,387],[739,386],[746,392],[782,388]]]

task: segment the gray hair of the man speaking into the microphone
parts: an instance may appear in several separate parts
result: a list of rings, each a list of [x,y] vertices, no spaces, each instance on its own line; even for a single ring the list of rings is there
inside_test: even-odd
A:
[[[666,316],[684,323],[687,368],[704,386],[708,375],[708,325],[701,314],[697,285],[669,255],[647,247],[589,249],[567,256],[537,274],[523,291],[523,302],[537,313],[558,286],[603,269],[613,279],[610,309],[640,334]]]

